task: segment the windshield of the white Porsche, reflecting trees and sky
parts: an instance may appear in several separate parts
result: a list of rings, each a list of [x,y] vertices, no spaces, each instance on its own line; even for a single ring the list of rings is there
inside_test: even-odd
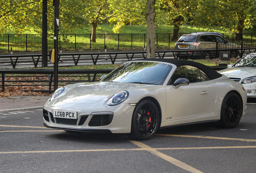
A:
[[[110,72],[102,82],[162,85],[172,66],[161,62],[127,62]]]

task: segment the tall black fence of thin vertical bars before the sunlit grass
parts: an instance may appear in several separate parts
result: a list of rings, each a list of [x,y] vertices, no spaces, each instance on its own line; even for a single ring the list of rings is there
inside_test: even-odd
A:
[[[229,42],[239,45],[256,46],[256,33],[222,33]],[[59,34],[59,46],[64,51],[70,50],[103,50],[107,49],[140,49],[147,47],[147,34],[95,34],[96,42],[91,41],[92,34]],[[157,48],[173,48],[182,34],[156,34]],[[48,50],[54,48],[54,35],[48,34]],[[40,52],[41,34],[0,34],[0,53],[7,52]]]

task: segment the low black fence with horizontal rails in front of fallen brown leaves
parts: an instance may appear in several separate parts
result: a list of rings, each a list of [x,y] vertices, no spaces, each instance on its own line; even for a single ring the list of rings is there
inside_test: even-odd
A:
[[[225,66],[210,66],[214,70],[223,70]],[[108,74],[113,69],[90,69],[90,70],[59,70],[58,86],[80,82],[95,82],[99,81],[103,74]],[[0,70],[2,79],[0,80],[0,88],[2,91],[6,88],[16,90],[19,87],[21,91],[31,92],[47,92],[53,93],[54,70]],[[11,88],[9,88],[11,87]]]

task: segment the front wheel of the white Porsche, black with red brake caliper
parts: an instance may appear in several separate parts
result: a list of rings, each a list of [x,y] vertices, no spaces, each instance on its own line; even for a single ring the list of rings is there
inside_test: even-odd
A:
[[[159,127],[159,111],[150,100],[139,102],[132,115],[130,137],[135,140],[149,140]]]

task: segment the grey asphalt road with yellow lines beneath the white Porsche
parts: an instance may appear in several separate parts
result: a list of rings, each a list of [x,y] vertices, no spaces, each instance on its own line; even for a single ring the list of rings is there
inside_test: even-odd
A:
[[[255,173],[256,101],[234,129],[161,129],[149,141],[43,127],[42,109],[0,112],[0,173]]]

